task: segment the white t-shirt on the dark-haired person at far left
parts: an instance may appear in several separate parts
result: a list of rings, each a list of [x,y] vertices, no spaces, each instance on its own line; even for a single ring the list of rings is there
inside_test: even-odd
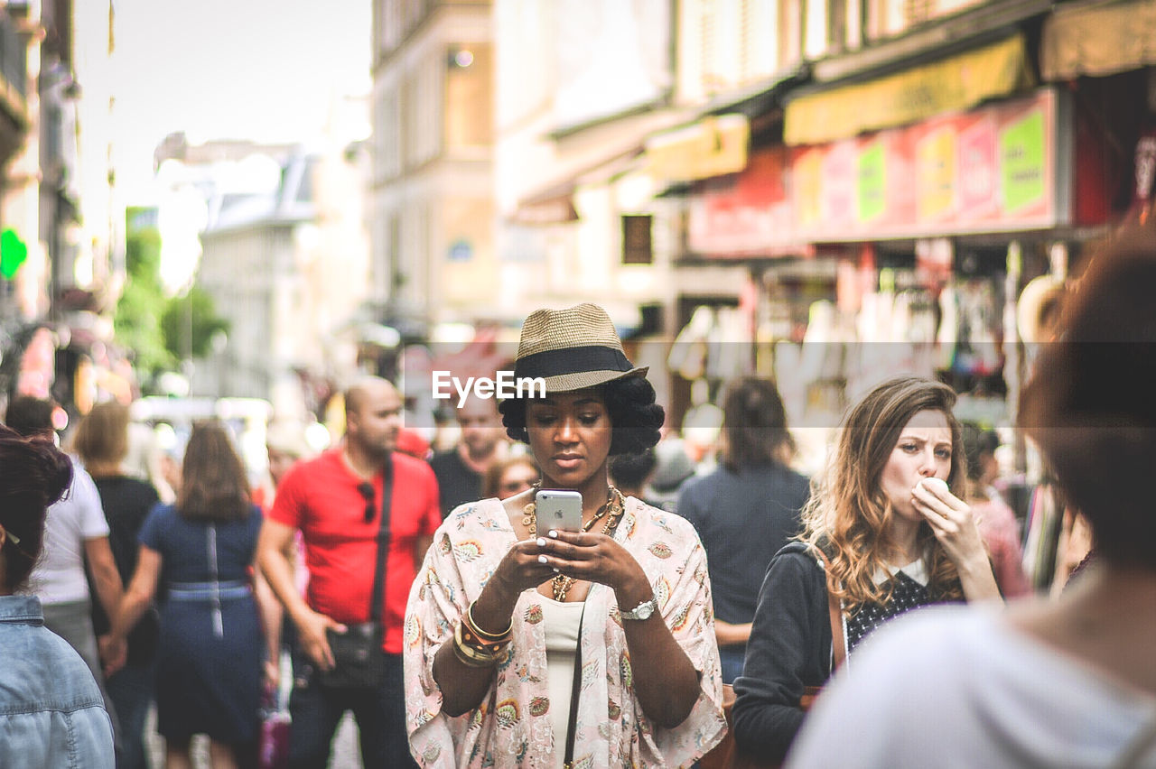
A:
[[[28,589],[42,604],[88,600],[84,540],[109,536],[109,522],[91,476],[73,458],[73,481],[44,523],[44,553],[32,569]]]

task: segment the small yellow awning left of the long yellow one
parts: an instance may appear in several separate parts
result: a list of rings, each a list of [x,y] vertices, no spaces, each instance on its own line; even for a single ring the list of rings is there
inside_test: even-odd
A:
[[[747,167],[749,141],[746,115],[710,115],[647,139],[646,167],[666,184],[738,173]]]

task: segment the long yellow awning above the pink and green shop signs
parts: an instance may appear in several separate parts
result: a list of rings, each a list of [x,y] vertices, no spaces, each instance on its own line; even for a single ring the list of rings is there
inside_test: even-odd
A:
[[[786,105],[786,144],[821,144],[958,112],[1032,85],[1022,35]]]

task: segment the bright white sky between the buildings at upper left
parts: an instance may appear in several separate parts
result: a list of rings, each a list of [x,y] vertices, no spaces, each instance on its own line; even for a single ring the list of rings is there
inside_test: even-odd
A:
[[[371,0],[114,0],[114,8],[105,75],[113,82],[94,90],[111,87],[116,97],[114,165],[128,204],[151,202],[153,151],[170,133],[192,143],[309,141],[335,92],[370,89]]]

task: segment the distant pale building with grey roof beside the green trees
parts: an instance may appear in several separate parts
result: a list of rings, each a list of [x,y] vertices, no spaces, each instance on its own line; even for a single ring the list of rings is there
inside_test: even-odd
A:
[[[365,164],[334,144],[297,151],[267,193],[218,195],[200,234],[195,285],[229,330],[193,361],[193,394],[264,398],[279,417],[320,416],[316,384],[356,372],[368,296]]]

